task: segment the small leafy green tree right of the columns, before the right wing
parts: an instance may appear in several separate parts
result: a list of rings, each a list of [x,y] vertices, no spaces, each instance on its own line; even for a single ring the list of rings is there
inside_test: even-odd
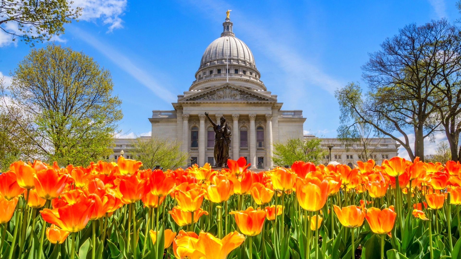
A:
[[[295,161],[312,162],[319,164],[326,151],[320,148],[321,139],[312,138],[290,138],[284,142],[274,142],[274,155],[272,162],[274,165],[292,165]]]

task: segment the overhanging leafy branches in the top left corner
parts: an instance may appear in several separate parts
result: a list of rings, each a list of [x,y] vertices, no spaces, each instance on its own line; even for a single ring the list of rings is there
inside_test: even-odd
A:
[[[82,8],[71,8],[67,0],[1,0],[0,29],[31,43],[50,40],[53,35],[64,33],[64,24],[77,19]],[[17,31],[7,29],[8,23],[18,25]],[[13,41],[16,38],[13,37]]]

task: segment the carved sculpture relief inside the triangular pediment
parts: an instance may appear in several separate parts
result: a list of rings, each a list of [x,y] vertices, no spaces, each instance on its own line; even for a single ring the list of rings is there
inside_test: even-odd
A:
[[[261,98],[255,95],[251,95],[247,92],[243,92],[241,90],[233,89],[230,87],[219,88],[215,91],[210,93],[199,95],[193,97],[189,100],[243,100],[243,101],[253,101],[253,100],[268,100],[265,98]]]

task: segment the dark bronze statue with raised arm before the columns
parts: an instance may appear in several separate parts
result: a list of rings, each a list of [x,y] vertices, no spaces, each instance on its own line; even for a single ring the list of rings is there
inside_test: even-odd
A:
[[[214,135],[214,160],[216,161],[215,167],[227,167],[227,159],[229,159],[229,145],[231,144],[231,130],[227,125],[226,119],[222,116],[219,119],[220,125],[215,124],[205,112],[210,123],[213,125]]]

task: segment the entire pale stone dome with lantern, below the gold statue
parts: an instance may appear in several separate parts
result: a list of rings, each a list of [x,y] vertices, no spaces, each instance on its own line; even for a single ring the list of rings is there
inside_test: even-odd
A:
[[[226,18],[221,37],[205,49],[189,91],[207,89],[222,82],[266,91],[266,86],[260,80],[260,72],[254,65],[253,53],[247,44],[235,36],[232,27],[231,20]]]

